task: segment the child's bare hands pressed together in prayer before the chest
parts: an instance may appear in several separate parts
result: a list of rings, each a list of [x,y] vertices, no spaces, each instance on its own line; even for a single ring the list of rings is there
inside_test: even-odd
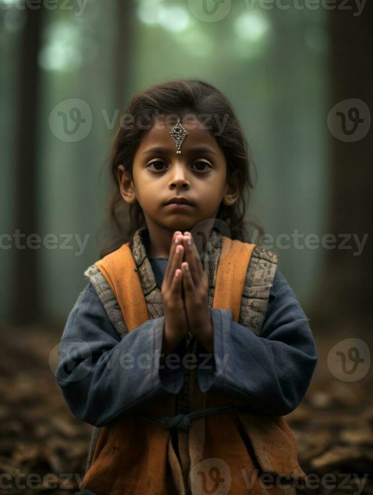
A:
[[[209,283],[193,236],[176,231],[172,237],[162,283],[165,316],[164,353],[171,353],[188,331],[213,353]]]

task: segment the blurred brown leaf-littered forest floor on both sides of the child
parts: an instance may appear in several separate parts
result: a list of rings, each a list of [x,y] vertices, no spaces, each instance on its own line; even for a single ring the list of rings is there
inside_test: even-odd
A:
[[[71,494],[84,475],[92,426],[72,415],[56,382],[61,334],[42,325],[0,332],[0,473],[8,474],[0,491],[9,495]],[[370,330],[360,334],[373,349]],[[368,369],[347,382],[332,373],[338,363],[328,355],[350,338],[347,327],[314,336],[319,360],[312,383],[285,417],[309,478],[298,493],[373,495],[373,374]]]

